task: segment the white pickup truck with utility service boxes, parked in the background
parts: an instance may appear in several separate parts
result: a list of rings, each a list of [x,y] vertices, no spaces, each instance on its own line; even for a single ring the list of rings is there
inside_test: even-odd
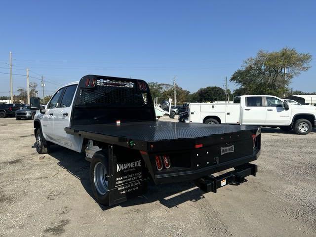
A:
[[[235,97],[234,104],[191,103],[179,121],[260,125],[308,134],[315,127],[316,107],[290,105],[272,95],[243,95]]]

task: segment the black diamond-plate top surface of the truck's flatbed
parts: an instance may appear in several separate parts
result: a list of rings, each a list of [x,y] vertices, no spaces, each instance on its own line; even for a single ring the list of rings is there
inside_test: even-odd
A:
[[[232,133],[244,130],[256,130],[256,126],[203,124],[182,122],[129,122],[116,124],[95,124],[71,126],[68,129],[114,137],[127,137],[148,142],[161,140],[190,139]]]

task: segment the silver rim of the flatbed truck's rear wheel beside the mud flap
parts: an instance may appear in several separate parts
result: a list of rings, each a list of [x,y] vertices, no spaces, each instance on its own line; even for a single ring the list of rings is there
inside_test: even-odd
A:
[[[108,192],[108,177],[107,170],[103,163],[98,162],[93,170],[94,186],[100,195],[105,195]]]

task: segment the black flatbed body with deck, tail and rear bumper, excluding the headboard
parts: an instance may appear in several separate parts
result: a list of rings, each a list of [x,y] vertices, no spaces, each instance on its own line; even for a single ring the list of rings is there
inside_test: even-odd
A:
[[[194,180],[204,192],[216,193],[226,184],[245,182],[246,176],[257,172],[257,166],[248,162],[260,155],[260,130],[257,126],[145,121],[77,125],[66,127],[65,131],[115,145],[117,149],[124,147],[139,151],[156,184]],[[131,141],[133,146],[130,145]],[[249,146],[249,143],[253,146]],[[223,148],[232,146],[233,152],[221,154]],[[175,166],[158,171],[155,157],[162,154],[168,154]],[[115,159],[114,162],[116,166]],[[235,171],[218,177],[209,176],[233,167]],[[115,173],[115,168],[112,171]],[[142,181],[146,182],[148,176],[143,173]],[[146,190],[144,183],[141,186]],[[113,186],[113,189],[116,187]],[[113,196],[110,192],[110,204],[127,199],[120,197],[118,192],[114,192]]]

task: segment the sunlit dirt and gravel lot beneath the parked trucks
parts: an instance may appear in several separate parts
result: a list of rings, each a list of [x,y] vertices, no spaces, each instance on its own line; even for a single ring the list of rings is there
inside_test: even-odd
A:
[[[80,154],[54,146],[42,157],[34,142],[32,120],[0,119],[0,237],[316,236],[315,130],[263,129],[258,174],[239,186],[150,185],[108,209]]]

